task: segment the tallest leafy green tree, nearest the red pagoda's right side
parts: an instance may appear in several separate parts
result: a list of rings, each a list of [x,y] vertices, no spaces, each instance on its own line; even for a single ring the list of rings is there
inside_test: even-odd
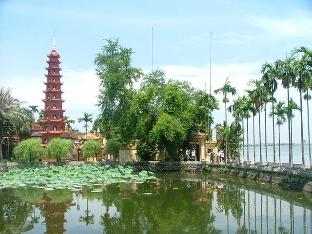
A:
[[[118,39],[108,39],[94,61],[100,81],[100,121],[106,139],[112,137],[110,126],[119,127],[120,119],[129,109],[133,97],[133,84],[141,77],[140,69],[131,66],[133,53],[132,49],[122,47]]]

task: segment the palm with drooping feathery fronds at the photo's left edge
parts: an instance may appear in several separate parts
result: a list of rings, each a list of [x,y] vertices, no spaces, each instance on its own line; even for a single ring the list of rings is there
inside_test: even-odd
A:
[[[4,120],[11,122],[16,128],[30,130],[27,123],[29,122],[29,110],[20,107],[24,102],[11,96],[11,89],[0,86],[0,142],[2,141],[2,125]],[[2,147],[0,144],[0,160],[3,160]]]

